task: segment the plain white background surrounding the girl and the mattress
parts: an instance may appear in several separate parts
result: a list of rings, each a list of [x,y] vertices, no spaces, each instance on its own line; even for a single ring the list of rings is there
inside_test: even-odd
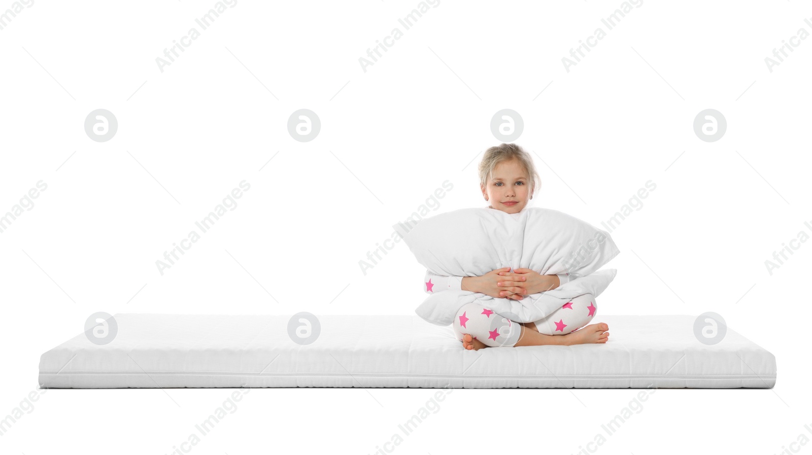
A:
[[[408,248],[366,273],[359,261],[446,180],[431,214],[483,206],[476,165],[501,142],[490,118],[514,109],[542,178],[534,206],[601,226],[656,184],[612,231],[603,315],[715,311],[777,358],[771,390],[660,389],[591,450],[780,453],[812,438],[812,243],[765,266],[812,234],[812,39],[773,71],[764,61],[812,32],[812,7],[646,1],[607,30],[621,2],[442,0],[405,31],[417,4],[240,0],[201,31],[214,2],[37,0],[7,22],[0,215],[48,187],[0,234],[0,416],[96,311],[412,315],[425,270]],[[160,71],[192,27],[201,36]],[[404,36],[363,71],[395,27]],[[566,71],[598,27],[607,36]],[[118,119],[112,140],[85,134],[94,109]],[[315,140],[288,134],[297,109],[321,119]],[[694,134],[703,109],[727,118],[721,140]],[[239,205],[158,273],[242,180]],[[231,392],[50,390],[0,452],[171,453]],[[253,389],[192,453],[374,453],[434,392]],[[455,390],[395,452],[577,453],[637,392]]]

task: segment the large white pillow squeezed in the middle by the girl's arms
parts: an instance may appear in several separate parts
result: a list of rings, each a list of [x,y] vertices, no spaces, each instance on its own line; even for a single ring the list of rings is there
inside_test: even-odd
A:
[[[540,320],[569,298],[601,294],[617,271],[598,269],[620,253],[606,231],[550,208],[525,208],[518,217],[495,208],[462,208],[393,227],[417,262],[440,275],[474,277],[511,267],[577,276],[521,301],[469,291],[432,294],[417,314],[439,325],[451,324],[456,310],[473,301],[517,322]]]

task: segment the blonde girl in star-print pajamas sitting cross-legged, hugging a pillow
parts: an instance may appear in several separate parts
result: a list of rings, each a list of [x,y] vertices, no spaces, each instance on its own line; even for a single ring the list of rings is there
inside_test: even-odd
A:
[[[479,179],[482,195],[490,202],[487,208],[501,210],[512,217],[519,217],[519,212],[533,199],[536,183],[540,181],[533,159],[516,144],[488,148],[479,163]],[[528,188],[528,184],[531,187]],[[469,290],[493,298],[521,300],[525,295],[555,289],[574,278],[569,274],[540,275],[529,268],[516,268],[510,272],[509,267],[482,277],[446,277],[426,271],[425,292]],[[609,338],[607,324],[586,325],[596,311],[595,298],[583,294],[542,320],[514,324],[479,303],[469,303],[457,311],[452,328],[467,350],[491,346],[606,343]]]

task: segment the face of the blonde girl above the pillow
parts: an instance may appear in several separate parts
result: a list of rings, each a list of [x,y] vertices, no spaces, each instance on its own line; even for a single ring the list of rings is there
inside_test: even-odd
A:
[[[493,178],[482,188],[491,208],[518,213],[525,208],[530,197],[529,177],[518,160],[502,161],[494,168]],[[516,204],[509,204],[516,202]]]

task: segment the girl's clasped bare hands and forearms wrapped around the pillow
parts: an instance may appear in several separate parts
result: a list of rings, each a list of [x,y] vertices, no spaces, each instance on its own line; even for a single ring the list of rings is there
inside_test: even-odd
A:
[[[521,300],[525,295],[537,294],[559,286],[556,275],[542,275],[529,268],[497,268],[482,277],[463,277],[462,290],[490,295],[493,298]]]

